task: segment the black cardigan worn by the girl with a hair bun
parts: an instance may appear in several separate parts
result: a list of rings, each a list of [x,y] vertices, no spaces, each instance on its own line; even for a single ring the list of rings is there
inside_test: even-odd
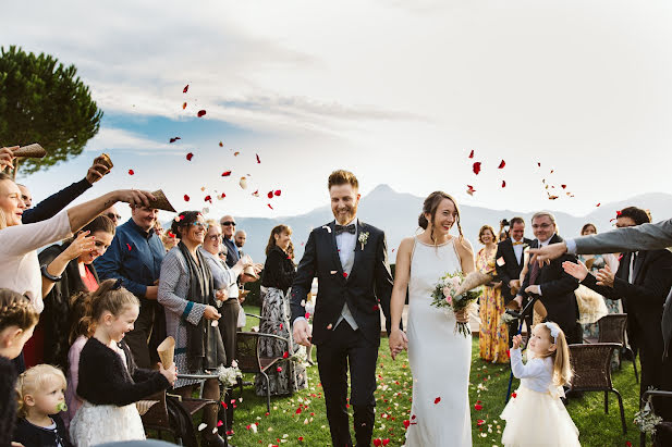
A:
[[[95,337],[86,342],[80,355],[77,395],[82,399],[94,405],[123,407],[170,387],[158,371],[137,368],[125,343],[120,346],[126,355],[126,365],[121,356]]]

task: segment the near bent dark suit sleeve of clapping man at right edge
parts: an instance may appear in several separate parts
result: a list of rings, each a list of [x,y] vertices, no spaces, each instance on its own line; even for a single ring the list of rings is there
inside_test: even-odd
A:
[[[672,253],[668,250],[649,251],[651,257],[642,284],[630,284],[627,281],[615,277],[613,293],[619,296],[633,297],[648,305],[662,306],[670,293],[670,275],[672,274]]]

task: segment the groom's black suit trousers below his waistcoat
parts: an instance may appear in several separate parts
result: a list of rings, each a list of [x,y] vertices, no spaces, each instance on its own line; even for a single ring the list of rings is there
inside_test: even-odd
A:
[[[354,331],[346,321],[341,321],[331,337],[317,346],[317,367],[334,447],[353,445],[346,407],[349,363],[356,445],[370,446],[376,419],[377,362],[378,345],[365,338],[361,331]]]

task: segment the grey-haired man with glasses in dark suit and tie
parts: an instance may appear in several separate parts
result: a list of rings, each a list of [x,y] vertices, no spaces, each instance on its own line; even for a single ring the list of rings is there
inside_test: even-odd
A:
[[[562,241],[557,234],[555,218],[550,212],[535,213],[532,218],[532,229],[537,238],[533,241],[532,248]],[[569,344],[579,344],[583,337],[578,324],[578,306],[574,295],[578,281],[562,269],[564,261],[576,262],[576,258],[564,254],[543,266],[530,262],[515,300],[522,306],[524,295],[538,296],[547,312],[545,320],[558,323]]]

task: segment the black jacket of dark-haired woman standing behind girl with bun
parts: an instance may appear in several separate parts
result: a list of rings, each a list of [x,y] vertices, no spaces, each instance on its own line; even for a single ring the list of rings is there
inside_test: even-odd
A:
[[[49,265],[61,254],[69,244],[52,245],[38,254],[40,265]],[[94,274],[96,282],[98,274],[93,263],[87,269]],[[80,291],[88,291],[82,276],[77,260],[68,263],[61,275],[61,281],[53,284],[53,288],[45,297],[45,310],[40,321],[45,326],[45,363],[68,369],[69,336],[73,321],[70,318],[70,299]]]

